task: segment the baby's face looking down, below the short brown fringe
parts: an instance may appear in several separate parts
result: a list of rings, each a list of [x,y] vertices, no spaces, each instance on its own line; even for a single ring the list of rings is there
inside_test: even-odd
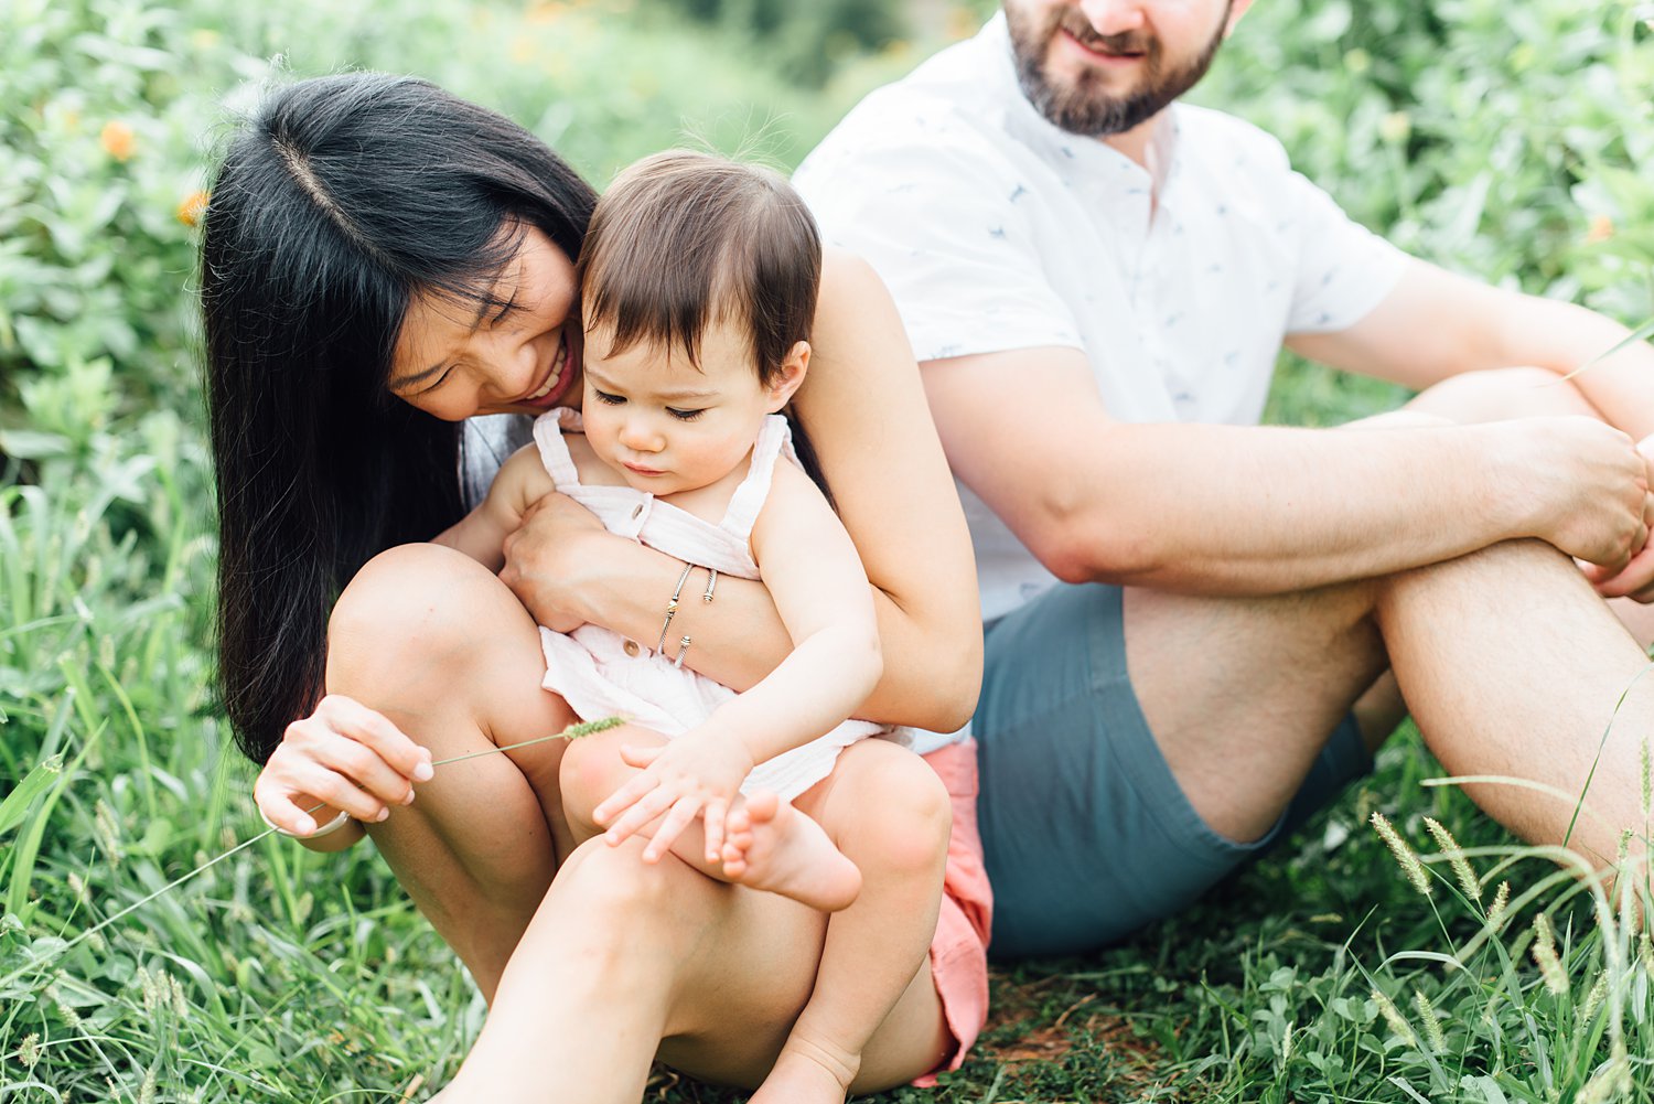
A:
[[[683,349],[638,343],[609,356],[612,329],[586,334],[586,440],[627,483],[655,495],[710,487],[758,440],[792,387],[766,387],[741,326],[710,324],[700,364]]]

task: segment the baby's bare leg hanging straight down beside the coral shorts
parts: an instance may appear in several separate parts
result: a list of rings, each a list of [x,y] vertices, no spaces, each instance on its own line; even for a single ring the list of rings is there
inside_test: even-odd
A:
[[[863,740],[799,808],[862,869],[862,894],[827,922],[815,990],[753,1104],[844,1104],[862,1049],[925,965],[941,907],[953,808],[925,760]],[[762,834],[748,819],[731,814],[736,849]]]

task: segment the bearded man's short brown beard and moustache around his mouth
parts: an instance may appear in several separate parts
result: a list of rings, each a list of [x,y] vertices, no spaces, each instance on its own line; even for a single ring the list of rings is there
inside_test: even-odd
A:
[[[1193,63],[1164,71],[1164,55],[1158,38],[1136,33],[1098,35],[1073,8],[1060,8],[1052,20],[1035,26],[1030,17],[1019,10],[1019,5],[1007,3],[1006,22],[1011,28],[1011,45],[1017,58],[1017,79],[1022,84],[1022,93],[1055,126],[1083,137],[1123,134],[1164,111],[1178,96],[1206,76],[1206,70],[1217,55],[1217,46],[1224,41],[1222,30],[1219,30]],[[1227,23],[1229,5],[1224,5],[1224,25]],[[1125,96],[1111,96],[1098,86],[1098,78],[1093,73],[1082,71],[1067,86],[1047,79],[1045,55],[1062,30],[1067,30],[1085,46],[1113,53],[1141,53],[1141,84]]]

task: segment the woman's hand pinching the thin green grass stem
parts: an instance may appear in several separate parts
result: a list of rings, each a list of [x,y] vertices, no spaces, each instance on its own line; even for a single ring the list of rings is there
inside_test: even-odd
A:
[[[414,801],[414,783],[433,775],[430,750],[414,743],[361,702],[329,694],[316,712],[288,725],[253,783],[253,799],[271,824],[293,836],[316,831],[318,804],[366,823]],[[332,816],[327,809],[324,814]]]

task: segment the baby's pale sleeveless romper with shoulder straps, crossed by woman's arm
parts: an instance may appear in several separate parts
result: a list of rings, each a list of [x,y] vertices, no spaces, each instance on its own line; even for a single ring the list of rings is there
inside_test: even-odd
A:
[[[753,523],[769,497],[776,458],[786,454],[789,462],[797,463],[787,419],[779,414],[764,419],[746,478],[736,487],[718,525],[633,487],[581,483],[569,445],[562,440],[564,429],[579,432],[577,412],[554,410],[534,420],[539,458],[557,490],[595,513],[604,528],[676,559],[716,568],[719,574],[759,578],[751,548]],[[700,601],[700,591],[686,589],[678,601]],[[670,740],[705,722],[736,695],[706,675],[675,667],[672,659],[648,644],[599,626],[581,626],[569,634],[543,627],[539,639],[546,652],[541,685],[561,695],[581,720],[624,717]],[[668,634],[668,641],[676,637]],[[771,790],[791,801],[832,771],[840,750],[887,732],[873,722],[847,720],[804,746],[759,763],[741,785],[741,793]]]

